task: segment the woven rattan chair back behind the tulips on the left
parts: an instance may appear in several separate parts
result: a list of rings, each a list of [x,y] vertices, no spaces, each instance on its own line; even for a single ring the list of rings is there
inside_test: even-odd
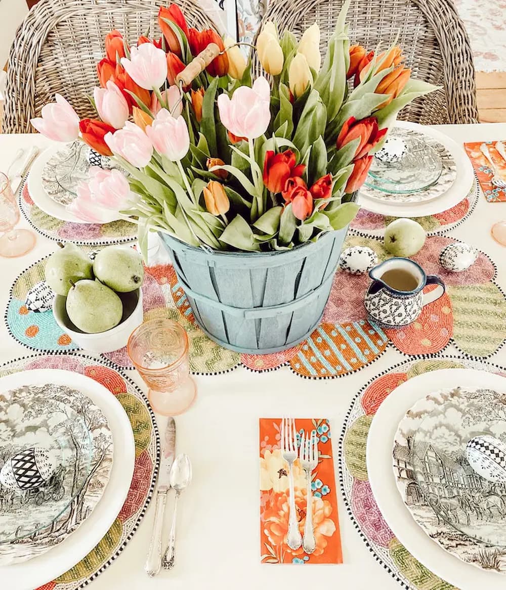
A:
[[[31,117],[59,92],[81,117],[93,116],[86,95],[98,84],[96,63],[104,38],[116,28],[134,42],[158,37],[160,0],[41,0],[18,29],[9,55],[4,133],[32,132]],[[188,24],[216,28],[192,0],[178,0]]]

